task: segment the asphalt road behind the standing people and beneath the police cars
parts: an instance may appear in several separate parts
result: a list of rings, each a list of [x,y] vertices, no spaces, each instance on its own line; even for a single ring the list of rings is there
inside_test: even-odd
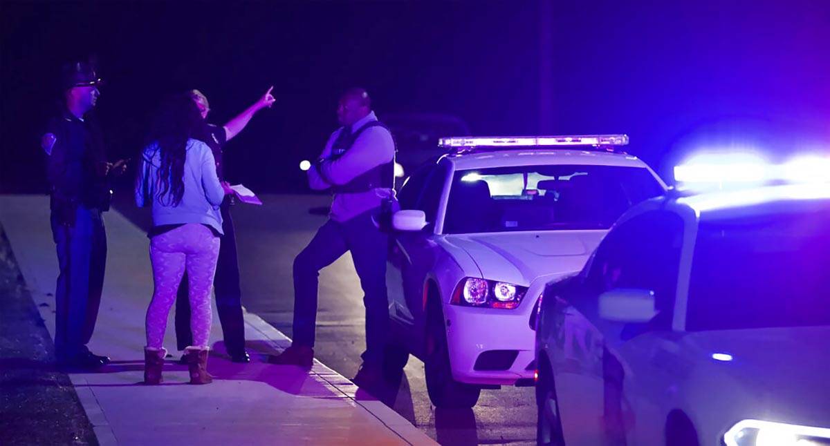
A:
[[[330,197],[268,195],[261,199],[264,206],[237,204],[232,210],[242,303],[247,311],[291,337],[291,265],[325,222],[320,211],[329,204]],[[125,200],[116,206],[139,225],[148,224],[146,213],[136,211]],[[354,376],[365,347],[364,307],[349,254],[321,271],[318,311],[315,356],[340,374]],[[533,388],[484,390],[472,410],[436,410],[427,396],[423,363],[411,356],[400,383],[389,385],[378,396],[440,444],[535,443]]]

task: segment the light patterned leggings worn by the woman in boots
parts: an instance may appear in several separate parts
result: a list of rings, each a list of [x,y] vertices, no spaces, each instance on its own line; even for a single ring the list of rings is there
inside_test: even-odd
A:
[[[205,225],[188,223],[150,240],[153,300],[147,308],[147,347],[161,348],[176,290],[188,271],[193,346],[207,347],[212,322],[211,288],[219,256],[219,237]]]

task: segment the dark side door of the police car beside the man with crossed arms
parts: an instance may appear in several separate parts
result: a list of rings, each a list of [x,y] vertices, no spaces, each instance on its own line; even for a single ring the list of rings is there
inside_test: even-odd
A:
[[[413,173],[401,188],[398,201],[401,209],[424,211],[427,226],[421,231],[393,231],[390,236],[387,288],[390,318],[415,330],[413,347],[419,347],[417,332],[423,328],[423,286],[437,259],[434,225],[444,187],[447,185],[446,165],[432,165]]]

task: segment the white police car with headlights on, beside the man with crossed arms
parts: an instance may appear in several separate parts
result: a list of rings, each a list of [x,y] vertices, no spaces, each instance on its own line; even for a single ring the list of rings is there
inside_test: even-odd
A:
[[[544,284],[582,268],[623,211],[664,193],[626,135],[442,138],[451,153],[398,191],[387,287],[388,363],[426,366],[438,407],[533,385],[530,313]]]

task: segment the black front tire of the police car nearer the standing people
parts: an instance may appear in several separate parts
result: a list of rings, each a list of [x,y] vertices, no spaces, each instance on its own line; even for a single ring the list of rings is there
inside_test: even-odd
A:
[[[444,331],[444,320],[440,309],[433,307],[429,313],[427,337],[429,337],[428,343],[432,346],[427,350],[427,361],[424,361],[429,400],[435,407],[470,409],[478,402],[481,387],[452,379],[447,332]]]

